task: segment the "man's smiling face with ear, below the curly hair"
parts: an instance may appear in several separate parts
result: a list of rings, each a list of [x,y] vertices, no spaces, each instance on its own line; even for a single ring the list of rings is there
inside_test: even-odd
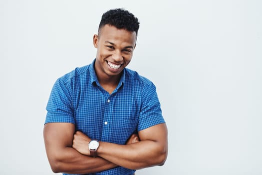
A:
[[[131,61],[136,45],[136,32],[106,24],[94,35],[97,48],[95,70],[97,76],[110,78],[119,75]]]

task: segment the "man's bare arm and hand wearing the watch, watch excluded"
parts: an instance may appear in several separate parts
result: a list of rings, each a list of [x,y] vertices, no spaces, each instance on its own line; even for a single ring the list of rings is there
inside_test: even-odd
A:
[[[167,127],[157,124],[138,132],[140,141],[120,145],[100,141],[98,156],[129,169],[163,165],[168,152]],[[90,138],[82,132],[76,132],[73,147],[85,155],[90,155],[87,144]]]

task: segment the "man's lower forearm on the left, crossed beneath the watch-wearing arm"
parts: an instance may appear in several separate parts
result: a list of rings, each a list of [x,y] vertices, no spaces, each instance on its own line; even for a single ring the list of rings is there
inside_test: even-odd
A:
[[[101,157],[83,155],[72,147],[65,147],[49,158],[54,172],[92,173],[111,169],[117,165]]]

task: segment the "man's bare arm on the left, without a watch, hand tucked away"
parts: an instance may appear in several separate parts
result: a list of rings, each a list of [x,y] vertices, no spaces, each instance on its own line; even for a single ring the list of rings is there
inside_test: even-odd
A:
[[[104,158],[86,156],[72,148],[74,132],[72,123],[53,122],[44,125],[45,149],[53,172],[91,173],[117,166]]]

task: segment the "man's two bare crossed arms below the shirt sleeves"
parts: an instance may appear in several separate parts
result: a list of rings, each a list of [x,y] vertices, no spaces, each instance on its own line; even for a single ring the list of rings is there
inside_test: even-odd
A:
[[[99,141],[96,158],[90,156],[88,149],[91,139],[80,131],[75,132],[72,123],[46,123],[43,134],[53,172],[92,173],[116,166],[140,169],[163,165],[167,158],[165,123],[131,135],[125,145]]]

